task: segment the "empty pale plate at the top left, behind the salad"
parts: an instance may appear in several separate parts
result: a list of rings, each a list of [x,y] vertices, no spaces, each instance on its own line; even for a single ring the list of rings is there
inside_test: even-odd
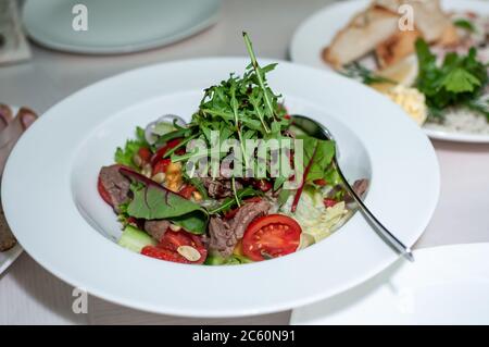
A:
[[[25,28],[49,48],[90,54],[128,53],[191,36],[217,20],[221,0],[85,0],[88,30],[74,30],[79,1],[26,1]]]

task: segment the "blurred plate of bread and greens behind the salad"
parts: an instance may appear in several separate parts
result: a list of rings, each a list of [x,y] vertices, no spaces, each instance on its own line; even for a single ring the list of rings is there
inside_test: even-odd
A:
[[[402,4],[413,30],[400,29]],[[488,15],[478,0],[346,1],[306,20],[290,55],[371,85],[431,138],[489,142]]]

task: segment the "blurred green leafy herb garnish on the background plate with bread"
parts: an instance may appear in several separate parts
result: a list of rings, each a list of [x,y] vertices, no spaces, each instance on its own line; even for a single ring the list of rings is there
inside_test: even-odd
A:
[[[475,48],[471,48],[467,55],[448,53],[439,66],[428,44],[418,39],[416,54],[419,73],[415,86],[425,95],[431,117],[439,117],[442,110],[451,106],[472,107],[487,116],[487,107],[475,102],[480,99],[489,79],[486,65],[477,60]]]

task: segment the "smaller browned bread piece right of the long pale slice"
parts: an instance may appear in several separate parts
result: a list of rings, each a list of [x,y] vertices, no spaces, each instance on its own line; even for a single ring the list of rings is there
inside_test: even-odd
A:
[[[397,30],[391,37],[375,48],[375,55],[380,69],[393,65],[414,52],[419,32]]]

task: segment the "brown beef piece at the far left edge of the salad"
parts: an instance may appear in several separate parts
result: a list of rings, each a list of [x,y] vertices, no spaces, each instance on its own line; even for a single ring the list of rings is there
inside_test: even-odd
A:
[[[116,212],[120,212],[118,206],[129,201],[130,181],[123,176],[118,169],[121,165],[114,164],[103,166],[100,170],[100,182],[109,193],[112,206]]]

